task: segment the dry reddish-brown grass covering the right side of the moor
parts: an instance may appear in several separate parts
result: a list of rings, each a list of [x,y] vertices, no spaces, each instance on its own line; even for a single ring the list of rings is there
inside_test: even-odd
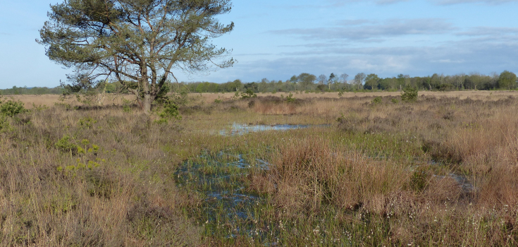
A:
[[[327,132],[291,140],[276,152],[266,176],[274,178],[269,181],[274,186],[254,178],[256,188],[273,194],[283,208],[279,218],[300,217],[301,212],[321,215],[320,210],[335,205],[357,210],[360,217],[369,215],[368,228],[390,225],[388,235],[377,236],[383,244],[517,244],[518,119],[513,112],[518,100],[503,95],[482,100],[425,96],[416,104],[393,104],[393,97],[385,97],[374,104],[373,98],[307,100],[297,105],[295,114],[331,119],[340,113],[339,128],[349,138],[358,133],[364,138],[400,135],[421,150],[393,150],[398,147],[390,143],[364,143],[370,145],[365,149],[362,141],[355,143],[360,149],[350,150],[330,142],[333,138]],[[261,112],[261,103],[256,102],[252,110]],[[383,150],[391,158],[365,158],[358,150]],[[398,159],[399,155],[409,157],[410,163]],[[430,159],[445,163],[442,168],[426,164]],[[425,162],[416,166],[412,160]],[[466,176],[473,187],[455,176],[443,176],[449,173]],[[463,222],[469,222],[469,227]],[[285,243],[299,242],[288,238]]]

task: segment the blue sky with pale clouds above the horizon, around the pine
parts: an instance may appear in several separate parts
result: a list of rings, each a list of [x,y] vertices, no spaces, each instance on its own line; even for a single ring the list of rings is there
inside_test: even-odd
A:
[[[69,69],[37,44],[50,4],[0,0],[0,89],[56,87]],[[235,29],[213,43],[232,49],[231,68],[179,81],[288,80],[312,73],[518,72],[518,0],[233,0],[218,16]]]

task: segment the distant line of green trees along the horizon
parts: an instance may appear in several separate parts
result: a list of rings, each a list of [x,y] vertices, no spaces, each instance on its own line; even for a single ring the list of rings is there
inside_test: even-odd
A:
[[[257,82],[245,83],[237,79],[227,83],[165,83],[164,87],[168,92],[185,90],[188,92],[290,92],[290,91],[311,91],[311,92],[358,92],[372,90],[397,91],[405,87],[417,88],[419,90],[431,91],[453,91],[453,90],[517,90],[517,76],[510,71],[483,75],[480,73],[457,74],[445,76],[434,73],[426,77],[410,77],[408,75],[397,75],[392,78],[380,78],[375,73],[366,75],[357,73],[354,78],[347,80],[349,75],[342,73],[338,76],[331,73],[329,76],[314,76],[310,73],[300,73],[299,76],[292,76],[289,80],[269,80],[263,78]],[[106,93],[128,93],[123,83],[97,83],[93,88],[96,92]],[[0,90],[1,95],[44,95],[62,94],[66,92],[66,85],[56,88],[13,88]]]

